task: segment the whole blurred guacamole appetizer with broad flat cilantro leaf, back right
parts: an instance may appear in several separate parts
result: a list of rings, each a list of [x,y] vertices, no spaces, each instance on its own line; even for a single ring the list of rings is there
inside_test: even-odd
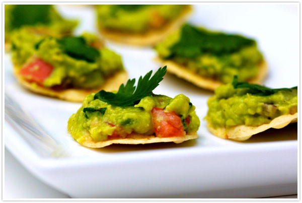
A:
[[[214,90],[239,80],[261,83],[267,66],[256,41],[185,24],[155,47],[168,72],[194,85]]]

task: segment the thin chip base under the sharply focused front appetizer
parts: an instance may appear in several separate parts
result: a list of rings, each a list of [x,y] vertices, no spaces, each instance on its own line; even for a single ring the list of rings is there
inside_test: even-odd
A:
[[[170,138],[159,138],[155,136],[146,136],[144,134],[130,134],[127,138],[116,138],[107,141],[95,142],[90,136],[87,140],[82,143],[82,145],[90,148],[103,148],[112,144],[128,144],[128,145],[138,145],[138,144],[150,144],[150,143],[182,143],[187,140],[192,140],[198,138],[197,132],[192,132],[186,134],[184,137],[170,137]]]

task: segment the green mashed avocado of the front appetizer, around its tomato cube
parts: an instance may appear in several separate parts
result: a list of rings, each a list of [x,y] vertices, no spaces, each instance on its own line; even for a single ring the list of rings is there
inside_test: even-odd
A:
[[[197,131],[200,121],[195,113],[195,106],[183,94],[174,99],[164,95],[152,95],[142,98],[134,106],[112,106],[99,99],[95,94],[88,95],[83,106],[68,120],[68,131],[79,143],[91,136],[94,141],[103,141],[112,136],[116,129],[122,134],[131,132],[150,135],[153,134],[152,109],[158,107],[167,112],[175,112],[182,119],[184,130]],[[190,123],[185,119],[189,116]]]

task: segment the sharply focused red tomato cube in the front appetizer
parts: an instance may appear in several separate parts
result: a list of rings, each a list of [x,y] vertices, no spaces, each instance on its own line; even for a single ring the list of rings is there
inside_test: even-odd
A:
[[[175,112],[165,112],[164,109],[154,107],[151,111],[154,131],[157,137],[183,137],[186,132],[179,115]]]

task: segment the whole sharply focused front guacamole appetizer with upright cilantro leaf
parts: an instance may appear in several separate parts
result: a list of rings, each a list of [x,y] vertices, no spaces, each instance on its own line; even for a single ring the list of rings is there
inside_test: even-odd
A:
[[[121,85],[118,92],[88,95],[68,120],[68,132],[81,145],[102,148],[111,144],[181,143],[197,138],[200,121],[195,106],[183,94],[170,98],[152,91],[166,74],[159,69]]]

